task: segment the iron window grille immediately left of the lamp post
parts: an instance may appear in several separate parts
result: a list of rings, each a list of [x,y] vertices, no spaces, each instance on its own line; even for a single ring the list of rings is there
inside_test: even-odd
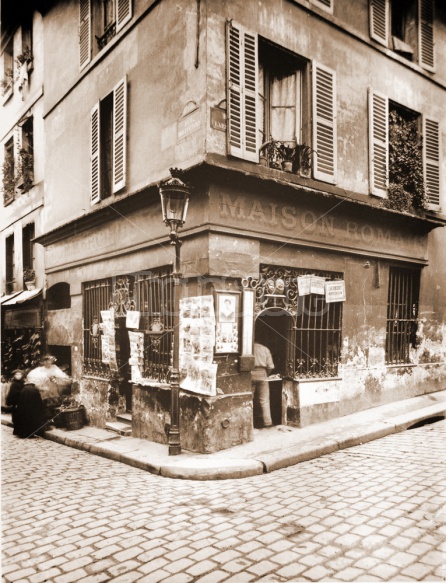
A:
[[[169,382],[173,343],[173,279],[171,268],[140,273],[136,280],[137,308],[144,335],[143,377]]]

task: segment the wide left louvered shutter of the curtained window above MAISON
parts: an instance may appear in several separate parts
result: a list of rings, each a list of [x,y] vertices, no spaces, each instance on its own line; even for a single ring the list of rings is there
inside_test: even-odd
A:
[[[257,137],[257,35],[233,22],[227,27],[228,152],[259,161]]]

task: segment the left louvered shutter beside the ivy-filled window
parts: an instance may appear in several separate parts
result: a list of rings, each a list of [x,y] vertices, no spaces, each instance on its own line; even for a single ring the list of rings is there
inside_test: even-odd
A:
[[[370,192],[387,198],[389,159],[389,101],[369,91]]]

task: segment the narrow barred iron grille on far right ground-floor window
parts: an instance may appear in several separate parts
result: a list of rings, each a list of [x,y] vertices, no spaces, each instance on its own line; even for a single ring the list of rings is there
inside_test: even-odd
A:
[[[390,267],[387,301],[387,364],[410,362],[418,328],[420,270]]]

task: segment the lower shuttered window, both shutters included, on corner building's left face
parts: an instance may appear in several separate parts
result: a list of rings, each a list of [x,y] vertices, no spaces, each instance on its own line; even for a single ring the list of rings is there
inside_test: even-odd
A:
[[[91,204],[125,187],[126,117],[124,78],[91,111]]]

